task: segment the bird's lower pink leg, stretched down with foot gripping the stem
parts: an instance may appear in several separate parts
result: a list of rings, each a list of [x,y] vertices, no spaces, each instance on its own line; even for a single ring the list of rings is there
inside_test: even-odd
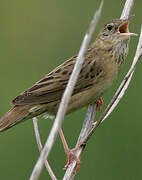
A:
[[[76,172],[79,172],[79,170],[80,170],[80,159],[74,154],[74,152],[77,151],[81,145],[78,144],[77,147],[75,147],[73,149],[69,149],[62,128],[59,129],[59,134],[60,134],[60,137],[61,137],[61,140],[62,140],[62,143],[63,143],[65,153],[67,154],[65,168],[68,168],[71,161],[74,159],[76,161],[76,163],[77,163]]]

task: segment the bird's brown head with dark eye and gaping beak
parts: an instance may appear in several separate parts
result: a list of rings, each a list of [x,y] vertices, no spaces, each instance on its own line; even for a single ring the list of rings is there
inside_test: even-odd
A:
[[[131,36],[136,36],[137,34],[129,32],[129,22],[132,17],[109,21],[100,31],[97,39],[100,39],[106,45],[115,45],[128,40]]]

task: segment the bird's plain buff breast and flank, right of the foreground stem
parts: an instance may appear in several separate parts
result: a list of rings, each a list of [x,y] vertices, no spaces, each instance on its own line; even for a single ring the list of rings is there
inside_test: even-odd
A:
[[[99,68],[102,71],[96,78],[92,79],[92,86],[71,97],[67,113],[94,103],[112,86],[118,74],[117,63],[110,58],[108,61],[99,62]]]

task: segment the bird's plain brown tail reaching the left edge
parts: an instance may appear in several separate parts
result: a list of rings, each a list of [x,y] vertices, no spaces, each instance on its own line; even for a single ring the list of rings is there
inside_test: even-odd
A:
[[[0,119],[0,131],[29,118],[29,106],[14,106]]]

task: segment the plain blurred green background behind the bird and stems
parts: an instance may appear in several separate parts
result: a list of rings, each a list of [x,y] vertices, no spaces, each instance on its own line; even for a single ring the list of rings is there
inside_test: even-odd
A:
[[[124,0],[106,0],[96,33],[109,19],[120,17]],[[9,102],[42,78],[57,65],[78,52],[99,0],[1,0],[0,1],[0,116],[9,110]],[[135,18],[131,31],[139,33],[142,1],[132,10]],[[127,72],[138,37],[132,38],[123,72],[104,96],[109,102]],[[81,159],[76,180],[142,179],[141,68],[137,65],[132,82],[120,104],[97,129]],[[79,135],[86,108],[66,116],[63,129],[70,147]],[[100,112],[101,113],[101,112]],[[52,120],[39,118],[44,143]],[[39,156],[32,120],[0,134],[0,179],[26,180]],[[62,179],[65,154],[59,137],[49,157],[50,164]],[[40,180],[50,179],[45,168]]]

